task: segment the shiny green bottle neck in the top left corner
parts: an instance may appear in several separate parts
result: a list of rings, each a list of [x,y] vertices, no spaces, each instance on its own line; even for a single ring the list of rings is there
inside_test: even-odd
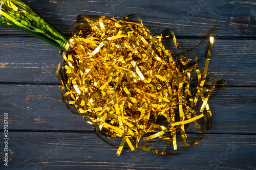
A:
[[[0,25],[4,27],[15,27],[45,40],[60,49],[68,42],[68,37],[64,36],[26,3],[20,0],[1,0]]]

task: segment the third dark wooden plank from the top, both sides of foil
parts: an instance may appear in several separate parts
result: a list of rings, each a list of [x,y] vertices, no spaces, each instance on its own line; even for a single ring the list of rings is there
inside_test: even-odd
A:
[[[58,85],[1,84],[0,98],[0,120],[7,112],[10,130],[93,131],[82,116],[72,114],[62,103]],[[207,133],[255,134],[255,103],[255,87],[215,91],[209,99],[213,127]],[[188,130],[199,132],[193,124]]]

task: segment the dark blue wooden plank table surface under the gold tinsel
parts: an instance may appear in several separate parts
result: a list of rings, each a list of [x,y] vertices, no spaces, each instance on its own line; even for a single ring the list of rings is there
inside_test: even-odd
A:
[[[183,49],[198,44],[215,25],[209,75],[227,88],[209,99],[213,127],[201,142],[177,156],[124,151],[105,144],[81,116],[61,101],[58,48],[13,28],[0,28],[0,142],[4,156],[4,113],[8,113],[8,168],[20,169],[255,169],[255,1],[78,1],[27,3],[57,29],[71,35],[78,14],[136,13],[154,35],[172,29]],[[208,40],[199,48],[206,58]],[[166,48],[177,52],[169,41]],[[190,54],[193,57],[196,54]],[[201,63],[203,66],[203,62]],[[189,126],[193,136],[195,128]],[[193,129],[194,128],[194,129]],[[119,139],[112,139],[118,145]],[[178,148],[179,151],[182,147]],[[170,149],[169,151],[172,151]],[[0,169],[7,168],[1,161]]]

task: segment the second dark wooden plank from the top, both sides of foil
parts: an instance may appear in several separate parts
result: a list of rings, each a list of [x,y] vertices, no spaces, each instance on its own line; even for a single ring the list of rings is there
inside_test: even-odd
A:
[[[180,38],[182,49],[196,46],[202,39]],[[167,49],[180,53],[171,39],[163,40]],[[228,85],[255,86],[256,40],[216,39],[209,65],[209,75],[225,79]],[[57,83],[56,68],[61,61],[58,48],[37,38],[1,37],[1,83]],[[199,48],[200,68],[204,66],[208,40]],[[196,52],[187,57],[195,57]]]

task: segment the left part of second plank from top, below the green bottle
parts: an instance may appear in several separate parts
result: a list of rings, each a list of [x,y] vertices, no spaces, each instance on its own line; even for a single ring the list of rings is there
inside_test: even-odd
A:
[[[60,83],[56,69],[62,57],[54,45],[38,38],[2,37],[1,82]]]

